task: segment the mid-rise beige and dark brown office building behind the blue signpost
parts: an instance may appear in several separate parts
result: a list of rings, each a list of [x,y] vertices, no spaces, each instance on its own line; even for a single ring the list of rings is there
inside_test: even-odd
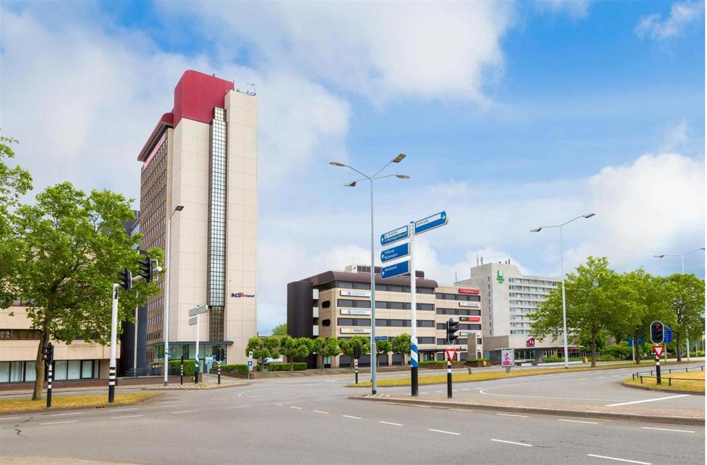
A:
[[[410,276],[383,280],[375,267],[375,334],[392,339],[411,333]],[[445,360],[446,322],[460,321],[457,360],[475,360],[484,352],[481,338],[481,297],[475,287],[443,286],[416,272],[417,339],[419,360]],[[287,285],[287,329],[295,337],[370,338],[370,266],[329,270]],[[381,366],[409,362],[409,355],[380,355]],[[313,363],[313,360],[312,360]],[[317,364],[320,360],[317,360]],[[346,367],[346,355],[327,357],[325,367]],[[361,366],[370,365],[363,355]]]

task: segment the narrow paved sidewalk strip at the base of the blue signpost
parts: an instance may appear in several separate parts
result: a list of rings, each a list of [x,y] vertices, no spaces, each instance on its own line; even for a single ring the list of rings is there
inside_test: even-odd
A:
[[[486,399],[448,399],[438,396],[421,395],[411,397],[405,394],[366,394],[349,398],[360,401],[401,403],[438,408],[464,408],[469,410],[491,410],[514,413],[536,413],[540,415],[560,415],[568,417],[604,418],[608,420],[646,421],[652,423],[672,423],[675,425],[705,424],[703,410],[674,410],[670,408],[648,409],[640,407],[608,407],[596,404],[573,404],[533,401],[494,401]]]

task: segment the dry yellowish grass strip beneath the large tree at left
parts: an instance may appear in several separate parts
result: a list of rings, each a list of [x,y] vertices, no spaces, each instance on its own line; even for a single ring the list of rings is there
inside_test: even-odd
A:
[[[100,396],[52,396],[52,408],[47,409],[46,398],[33,401],[28,398],[7,398],[0,400],[0,413],[18,413],[42,410],[60,410],[62,408],[88,408],[106,406],[126,406],[161,396],[158,392],[136,392],[130,394],[115,394],[115,402],[107,401],[107,394]]]

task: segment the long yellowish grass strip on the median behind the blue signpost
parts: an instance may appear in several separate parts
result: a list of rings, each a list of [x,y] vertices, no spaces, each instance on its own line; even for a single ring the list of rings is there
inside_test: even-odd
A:
[[[667,362],[667,364],[675,364],[677,362]],[[684,362],[681,362],[684,363]],[[663,365],[666,363],[663,362]],[[569,367],[565,368],[540,368],[540,369],[511,369],[510,373],[506,372],[486,372],[486,373],[472,373],[472,374],[452,374],[452,381],[456,383],[468,383],[472,381],[488,381],[489,379],[503,379],[503,378],[518,378],[518,377],[530,377],[539,374],[553,374],[553,373],[567,373],[567,372],[588,372],[597,371],[602,369],[617,369],[617,368],[631,368],[636,367],[637,369],[648,367],[649,364],[635,364],[631,362],[627,363],[616,363],[599,365],[597,367]],[[645,378],[644,378],[645,381]],[[435,376],[419,377],[418,384],[421,386],[424,384],[446,384],[447,374],[440,374]],[[380,387],[395,387],[395,386],[409,386],[410,378],[392,378],[392,379],[379,379],[376,383]],[[363,381],[358,384],[346,384],[346,387],[370,387],[370,381]]]

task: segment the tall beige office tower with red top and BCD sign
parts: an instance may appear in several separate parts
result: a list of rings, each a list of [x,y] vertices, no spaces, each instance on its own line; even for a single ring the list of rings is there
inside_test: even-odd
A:
[[[209,308],[199,316],[201,359],[225,348],[228,363],[245,362],[256,335],[257,110],[255,93],[185,71],[138,156],[141,248],[170,241],[171,359],[194,357],[189,309],[199,305]],[[148,300],[148,360],[163,358],[164,306],[164,292]]]

